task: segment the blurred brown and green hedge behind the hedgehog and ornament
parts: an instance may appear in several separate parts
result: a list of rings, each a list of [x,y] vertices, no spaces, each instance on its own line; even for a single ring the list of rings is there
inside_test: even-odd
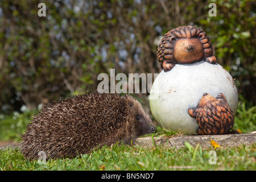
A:
[[[38,4],[46,4],[46,17]],[[209,3],[217,16],[209,16]],[[99,73],[157,73],[159,37],[203,28],[217,61],[256,103],[255,1],[0,2],[0,113],[97,89]]]

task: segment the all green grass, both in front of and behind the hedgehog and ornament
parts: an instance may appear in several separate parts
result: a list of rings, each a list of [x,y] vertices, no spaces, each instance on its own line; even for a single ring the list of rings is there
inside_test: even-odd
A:
[[[20,141],[32,113],[35,112],[10,116],[0,114],[0,141]],[[245,104],[241,103],[233,128],[250,133],[256,130],[255,122],[256,106],[246,109]],[[202,150],[201,146],[193,148],[189,143],[180,149],[116,144],[77,158],[48,160],[46,163],[28,161],[18,148],[6,148],[0,150],[0,170],[255,170],[255,146],[256,143]],[[209,163],[213,158],[211,151],[216,152],[216,164]]]

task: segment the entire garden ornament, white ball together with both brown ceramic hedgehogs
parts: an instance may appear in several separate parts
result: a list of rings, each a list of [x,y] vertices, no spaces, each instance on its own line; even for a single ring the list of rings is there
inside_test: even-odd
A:
[[[232,129],[238,105],[236,84],[216,63],[204,31],[192,26],[170,30],[159,43],[158,60],[163,70],[149,99],[159,126],[192,135],[225,134]]]

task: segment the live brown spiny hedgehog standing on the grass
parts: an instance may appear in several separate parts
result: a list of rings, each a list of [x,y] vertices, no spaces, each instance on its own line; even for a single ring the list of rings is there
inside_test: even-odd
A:
[[[72,158],[104,145],[129,144],[154,130],[133,96],[90,92],[44,106],[28,123],[21,151],[28,160],[38,159],[40,151],[46,160]]]

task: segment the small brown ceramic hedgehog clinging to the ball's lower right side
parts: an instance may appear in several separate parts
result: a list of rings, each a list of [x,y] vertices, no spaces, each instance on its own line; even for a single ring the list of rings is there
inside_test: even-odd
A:
[[[196,118],[199,135],[227,134],[234,126],[234,114],[224,94],[215,98],[204,93],[196,107],[190,107],[188,114]]]

